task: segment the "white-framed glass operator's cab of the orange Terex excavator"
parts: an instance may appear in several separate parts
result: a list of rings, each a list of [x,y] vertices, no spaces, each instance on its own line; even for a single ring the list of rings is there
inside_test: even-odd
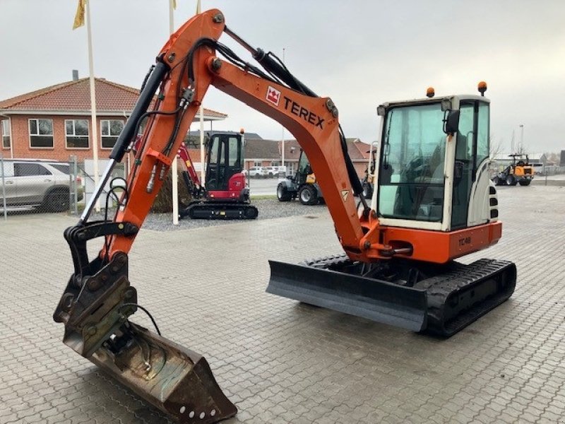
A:
[[[489,186],[486,98],[387,103],[379,111],[383,143],[375,210],[383,223],[450,231],[496,218],[484,196],[472,196],[473,186],[475,192]],[[446,134],[446,116],[453,111],[458,125]]]

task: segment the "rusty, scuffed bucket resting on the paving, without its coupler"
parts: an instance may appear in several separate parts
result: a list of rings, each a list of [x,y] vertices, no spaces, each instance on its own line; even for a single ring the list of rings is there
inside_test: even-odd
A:
[[[237,413],[203,356],[126,322],[90,358],[179,423],[217,423]]]

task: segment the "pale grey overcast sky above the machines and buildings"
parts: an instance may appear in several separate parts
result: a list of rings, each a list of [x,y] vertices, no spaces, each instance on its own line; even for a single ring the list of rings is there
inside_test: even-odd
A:
[[[0,0],[0,100],[88,76],[78,0]],[[95,76],[138,88],[169,32],[168,0],[90,0]],[[347,137],[378,138],[376,106],[477,93],[487,81],[494,143],[521,138],[530,153],[565,149],[565,1],[202,0],[254,47],[340,110]],[[177,0],[175,28],[196,9]],[[227,36],[221,39],[234,47]],[[251,60],[243,49],[237,52]],[[204,105],[229,115],[214,129],[280,139],[279,124],[211,89]],[[196,126],[194,126],[196,129]],[[285,133],[288,138],[290,135]]]

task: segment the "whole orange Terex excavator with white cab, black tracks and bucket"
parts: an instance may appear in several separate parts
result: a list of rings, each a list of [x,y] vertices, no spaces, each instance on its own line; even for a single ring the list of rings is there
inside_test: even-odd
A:
[[[245,47],[262,69],[218,40]],[[64,343],[181,423],[213,423],[237,412],[206,360],[129,320],[137,310],[128,252],[208,87],[283,124],[316,172],[345,255],[300,265],[271,261],[268,292],[415,331],[450,336],[513,293],[516,266],[457,257],[496,243],[496,191],[486,171],[489,101],[447,96],[387,103],[371,204],[347,155],[338,109],[307,88],[273,54],[198,14],[170,37],[110,155],[95,195],[64,235],[74,273],[54,320]],[[158,93],[152,110],[150,104]],[[89,220],[114,165],[148,118],[112,220]],[[110,184],[112,191],[119,184]],[[86,244],[103,237],[95,258]],[[153,319],[153,318],[152,318]]]

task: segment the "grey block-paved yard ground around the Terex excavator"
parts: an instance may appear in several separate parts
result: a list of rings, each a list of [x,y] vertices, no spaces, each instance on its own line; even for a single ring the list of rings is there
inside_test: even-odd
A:
[[[499,201],[501,242],[465,261],[516,262],[516,293],[448,340],[264,293],[268,259],[340,252],[321,208],[142,231],[130,279],[162,333],[207,358],[239,408],[230,424],[565,423],[565,188],[500,187]],[[0,222],[0,423],[167,423],[61,342],[75,221]]]

